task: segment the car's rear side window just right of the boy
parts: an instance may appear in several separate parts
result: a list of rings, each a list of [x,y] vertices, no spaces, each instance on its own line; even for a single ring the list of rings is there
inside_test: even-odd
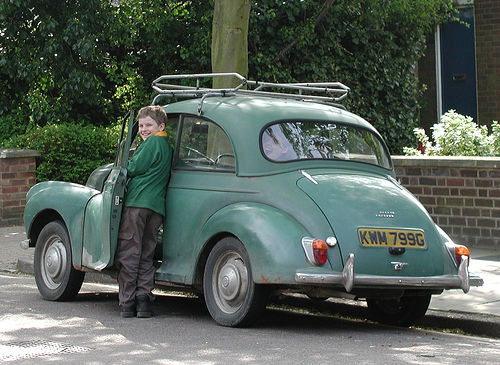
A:
[[[222,128],[205,119],[183,118],[175,167],[230,172],[235,163],[231,141]]]

